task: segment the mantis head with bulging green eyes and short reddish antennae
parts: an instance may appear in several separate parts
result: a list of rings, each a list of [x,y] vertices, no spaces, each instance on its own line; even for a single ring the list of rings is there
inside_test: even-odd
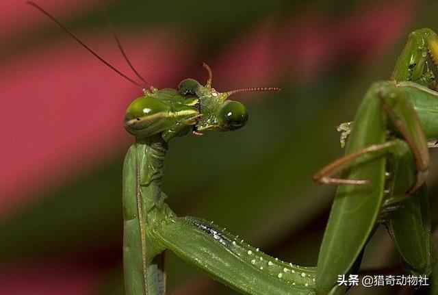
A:
[[[211,88],[211,70],[207,84],[195,79],[184,79],[177,89],[146,90],[144,97],[135,99],[125,115],[125,129],[133,136],[146,138],[162,133],[168,141],[192,130],[202,135],[205,130],[233,131],[248,121],[246,107],[228,98],[237,92],[269,91],[279,88],[246,88],[218,92]]]

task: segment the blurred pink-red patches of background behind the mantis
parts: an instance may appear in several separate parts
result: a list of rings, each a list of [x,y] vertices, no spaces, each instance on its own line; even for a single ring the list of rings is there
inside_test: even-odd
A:
[[[99,6],[97,1],[38,3],[62,20]],[[218,90],[274,86],[278,79],[309,84],[337,60],[354,57],[365,65],[381,57],[404,38],[402,32],[418,3],[357,5],[348,16],[335,20],[309,6],[290,15],[282,27],[267,14],[245,36],[231,40],[218,57],[205,62],[214,70]],[[6,1],[0,8],[2,44],[20,42],[16,36],[38,27],[55,27],[23,1]],[[205,80],[204,60],[192,54],[194,46],[201,44],[188,32],[162,27],[135,32],[118,29],[118,33],[133,64],[154,86],[175,87],[194,66],[198,70],[193,76]],[[79,38],[131,75],[109,30]],[[125,107],[142,94],[68,36],[8,51],[5,56],[0,71],[0,220],[38,201],[32,192],[53,183],[61,185],[90,163],[105,162],[126,149],[131,138],[122,126]],[[99,275],[99,268],[68,259],[0,266],[0,294],[88,294]]]

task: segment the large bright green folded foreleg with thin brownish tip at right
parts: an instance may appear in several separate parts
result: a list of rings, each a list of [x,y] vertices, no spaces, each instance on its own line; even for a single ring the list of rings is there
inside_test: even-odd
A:
[[[391,116],[393,113],[394,117]],[[396,140],[399,144],[394,146],[387,144],[388,130],[404,140]],[[337,188],[318,257],[318,294],[331,292],[337,276],[348,273],[368,241],[385,201],[385,172],[390,154],[385,154],[385,149],[398,153],[400,149],[394,147],[403,144],[413,151],[416,169],[425,170],[428,165],[427,142],[412,105],[396,84],[376,83],[365,94],[347,142],[346,155],[356,153],[357,156],[347,156],[337,163],[339,165],[333,166],[334,169],[342,165],[347,167],[341,179],[366,180],[369,184],[339,185]],[[377,151],[363,153],[370,146],[377,146]],[[423,156],[424,151],[426,156]],[[326,170],[333,171],[333,167]]]

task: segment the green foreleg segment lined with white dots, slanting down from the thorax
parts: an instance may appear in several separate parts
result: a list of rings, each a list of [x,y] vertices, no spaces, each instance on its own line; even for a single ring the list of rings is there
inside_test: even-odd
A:
[[[151,236],[185,261],[245,294],[315,294],[315,269],[274,259],[199,218],[168,218]]]

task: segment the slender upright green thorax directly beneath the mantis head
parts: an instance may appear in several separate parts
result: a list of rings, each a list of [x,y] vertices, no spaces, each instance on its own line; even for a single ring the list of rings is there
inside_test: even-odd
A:
[[[150,138],[144,142],[138,140],[125,157],[123,273],[127,295],[164,295],[166,292],[163,249],[146,235],[150,220],[167,216],[160,188],[165,153],[166,144]]]

